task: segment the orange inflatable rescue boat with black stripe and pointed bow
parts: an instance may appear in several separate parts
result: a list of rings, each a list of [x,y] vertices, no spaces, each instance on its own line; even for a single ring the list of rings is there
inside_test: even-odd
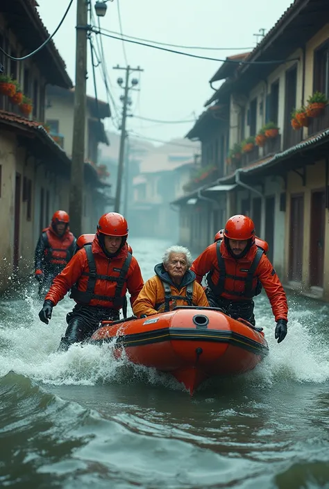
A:
[[[91,343],[115,340],[115,357],[170,372],[192,395],[214,375],[252,370],[269,349],[262,328],[235,320],[212,307],[176,307],[137,319],[103,321]]]

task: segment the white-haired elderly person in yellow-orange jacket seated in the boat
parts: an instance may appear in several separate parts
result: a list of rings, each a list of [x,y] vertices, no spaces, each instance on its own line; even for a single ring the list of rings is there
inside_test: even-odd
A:
[[[176,306],[209,307],[203,287],[189,270],[191,253],[183,246],[171,246],[165,251],[162,263],[155,265],[154,277],[144,284],[133,304],[138,318],[172,311]]]

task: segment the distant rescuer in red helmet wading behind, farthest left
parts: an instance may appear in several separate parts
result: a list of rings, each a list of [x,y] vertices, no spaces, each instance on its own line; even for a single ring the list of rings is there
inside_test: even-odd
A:
[[[53,278],[67,266],[75,247],[76,238],[69,231],[69,214],[56,211],[35,248],[35,278],[39,282],[40,298],[44,298]]]

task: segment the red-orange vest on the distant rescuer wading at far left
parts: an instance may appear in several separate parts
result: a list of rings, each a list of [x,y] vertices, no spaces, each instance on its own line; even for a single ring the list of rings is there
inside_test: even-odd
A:
[[[63,239],[57,237],[49,229],[42,232],[44,241],[44,260],[58,268],[65,268],[69,260],[74,255],[74,236],[73,234],[65,234]]]

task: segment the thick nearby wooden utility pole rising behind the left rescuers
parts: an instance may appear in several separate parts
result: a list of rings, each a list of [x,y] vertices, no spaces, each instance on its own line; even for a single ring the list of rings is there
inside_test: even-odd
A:
[[[77,0],[76,6],[76,86],[74,89],[74,127],[69,193],[70,228],[81,235],[85,166],[85,106],[87,85],[87,15],[88,1]]]

